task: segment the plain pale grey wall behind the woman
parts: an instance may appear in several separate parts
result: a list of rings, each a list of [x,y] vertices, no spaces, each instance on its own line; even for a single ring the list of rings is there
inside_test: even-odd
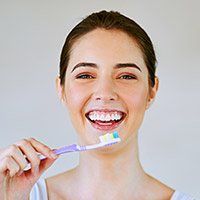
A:
[[[94,11],[117,10],[149,34],[160,87],[139,133],[146,172],[200,198],[200,3],[198,0],[0,0],[0,147],[35,137],[55,148],[76,142],[55,87],[69,30]],[[60,157],[43,176],[77,165]]]

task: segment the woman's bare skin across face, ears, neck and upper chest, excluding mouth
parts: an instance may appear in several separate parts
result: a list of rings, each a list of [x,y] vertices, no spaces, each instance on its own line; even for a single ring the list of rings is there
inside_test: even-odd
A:
[[[71,72],[82,62],[97,67],[82,66]],[[116,69],[119,63],[134,63],[139,69]],[[80,74],[89,76],[77,79]],[[174,190],[146,174],[139,161],[138,129],[156,96],[158,79],[149,87],[148,70],[133,38],[118,30],[87,33],[73,45],[65,85],[57,78],[56,86],[79,144],[96,143],[102,134],[86,119],[89,110],[118,109],[126,117],[115,129],[121,143],[80,153],[77,167],[46,179],[49,199],[170,199]]]

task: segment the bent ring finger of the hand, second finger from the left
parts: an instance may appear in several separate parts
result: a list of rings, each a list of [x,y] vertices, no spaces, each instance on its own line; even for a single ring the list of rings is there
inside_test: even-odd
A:
[[[10,145],[10,147],[5,150],[4,155],[12,156],[13,159],[20,166],[21,170],[24,169],[28,164],[27,160],[24,158],[23,153],[20,151],[18,146],[16,146],[15,144]]]

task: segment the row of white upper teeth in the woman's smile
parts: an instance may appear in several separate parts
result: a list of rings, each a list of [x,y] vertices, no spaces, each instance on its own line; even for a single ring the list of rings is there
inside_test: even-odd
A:
[[[97,112],[91,112],[89,114],[89,118],[91,120],[100,120],[100,121],[110,121],[110,120],[119,120],[121,119],[122,114],[121,113],[97,113]]]

